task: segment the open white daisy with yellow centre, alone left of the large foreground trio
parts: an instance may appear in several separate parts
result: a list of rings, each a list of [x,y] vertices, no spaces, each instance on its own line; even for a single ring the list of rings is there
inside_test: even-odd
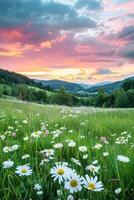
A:
[[[15,173],[19,176],[29,176],[32,174],[32,169],[27,165],[21,165],[16,168]]]

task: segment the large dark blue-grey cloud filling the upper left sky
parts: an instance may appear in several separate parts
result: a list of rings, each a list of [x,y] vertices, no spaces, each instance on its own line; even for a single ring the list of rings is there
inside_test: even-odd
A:
[[[54,1],[0,1],[0,28],[20,27],[28,23],[61,29],[94,27],[95,21],[79,16],[74,7]]]

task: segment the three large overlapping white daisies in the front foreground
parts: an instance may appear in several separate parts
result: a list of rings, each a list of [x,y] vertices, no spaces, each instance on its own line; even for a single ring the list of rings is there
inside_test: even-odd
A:
[[[74,169],[68,166],[68,163],[59,163],[50,170],[50,174],[54,181],[58,181],[59,184],[63,184],[64,188],[69,191],[70,194],[82,191],[86,188],[91,191],[101,191],[104,189],[101,181],[98,181],[98,177],[90,177],[85,175],[82,177],[77,174]]]

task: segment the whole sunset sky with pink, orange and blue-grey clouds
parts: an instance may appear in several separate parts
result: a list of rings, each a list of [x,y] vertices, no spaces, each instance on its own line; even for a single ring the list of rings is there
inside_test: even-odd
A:
[[[134,0],[0,0],[0,67],[80,83],[134,76]]]

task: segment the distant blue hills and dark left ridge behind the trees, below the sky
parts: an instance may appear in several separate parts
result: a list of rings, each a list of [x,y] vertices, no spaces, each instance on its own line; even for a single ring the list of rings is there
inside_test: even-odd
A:
[[[19,73],[10,72],[8,70],[0,69],[0,83],[3,84],[27,84],[29,86],[35,86],[47,90],[58,90],[64,87],[65,90],[73,94],[95,94],[100,88],[103,88],[105,92],[112,93],[114,90],[120,89],[123,82],[127,80],[134,80],[134,76],[128,77],[124,80],[116,81],[113,83],[97,83],[96,85],[72,83],[63,80],[37,80],[30,79],[27,76]],[[50,88],[47,88],[50,87]]]

